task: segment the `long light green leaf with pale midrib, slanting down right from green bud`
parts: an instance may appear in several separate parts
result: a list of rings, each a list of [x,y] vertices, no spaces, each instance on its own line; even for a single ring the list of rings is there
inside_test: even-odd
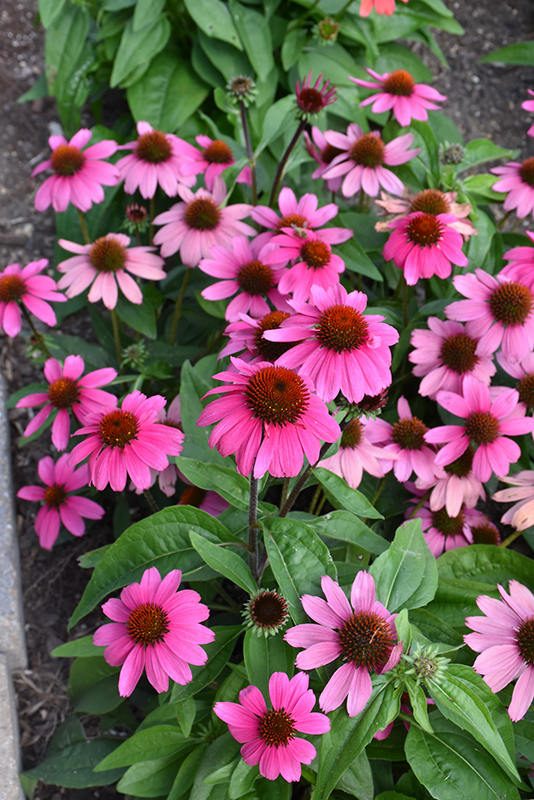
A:
[[[463,664],[450,664],[439,683],[427,681],[441,713],[468,731],[515,782],[514,735],[508,712],[484,680]]]

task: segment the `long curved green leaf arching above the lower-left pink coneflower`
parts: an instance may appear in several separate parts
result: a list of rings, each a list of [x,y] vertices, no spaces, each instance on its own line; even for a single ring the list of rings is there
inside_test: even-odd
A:
[[[165,508],[136,522],[111,545],[95,567],[70,627],[108,594],[139,581],[149,567],[156,566],[163,577],[172,569],[188,573],[202,566],[189,539],[192,530],[215,541],[239,541],[215,517],[189,506]]]

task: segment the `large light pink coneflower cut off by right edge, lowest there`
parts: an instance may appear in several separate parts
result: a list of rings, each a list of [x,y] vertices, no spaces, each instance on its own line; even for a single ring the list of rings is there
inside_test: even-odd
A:
[[[477,597],[486,616],[466,617],[465,624],[475,633],[464,636],[464,642],[480,653],[473,667],[493,692],[519,678],[508,708],[512,722],[518,722],[534,698],[534,596],[519,581],[510,581],[510,594],[499,584],[497,588],[502,600]]]

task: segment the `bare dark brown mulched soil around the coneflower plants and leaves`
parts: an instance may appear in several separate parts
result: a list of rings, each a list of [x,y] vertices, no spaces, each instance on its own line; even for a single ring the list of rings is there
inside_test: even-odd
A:
[[[449,0],[448,5],[466,31],[463,37],[436,34],[450,71],[422,45],[414,46],[436,77],[434,86],[449,98],[444,104],[446,112],[466,140],[488,137],[502,147],[520,149],[522,159],[534,155],[534,139],[526,135],[534,116],[521,109],[527,89],[534,89],[534,68],[478,63],[492,50],[532,39],[534,7],[530,0]],[[43,69],[44,37],[42,29],[34,25],[36,11],[36,0],[0,0],[0,270],[13,262],[24,265],[51,258],[54,243],[53,212],[35,212],[37,183],[30,180],[33,167],[48,155],[48,136],[57,132],[54,101],[16,102]],[[91,120],[84,123],[90,125]],[[532,220],[523,221],[522,227],[532,228]],[[69,324],[69,332],[85,335],[87,328],[81,321]],[[8,393],[43,380],[41,368],[28,359],[20,338],[13,340],[0,334],[0,365]],[[49,452],[49,436],[31,447],[17,448],[27,420],[26,410],[10,412],[15,492],[38,482],[37,462]],[[111,537],[105,525],[95,525],[79,541],[71,538],[52,552],[41,550],[33,528],[36,510],[34,503],[17,504],[28,669],[17,672],[14,678],[24,769],[42,761],[55,727],[70,713],[68,662],[49,653],[72,637],[67,622],[89,577],[76,559]],[[105,519],[109,517],[108,513]],[[74,635],[91,633],[100,622],[100,613],[94,612],[77,626]],[[90,734],[91,720],[85,724]],[[35,792],[35,800],[112,796],[117,793],[106,787],[74,790],[39,784]]]

